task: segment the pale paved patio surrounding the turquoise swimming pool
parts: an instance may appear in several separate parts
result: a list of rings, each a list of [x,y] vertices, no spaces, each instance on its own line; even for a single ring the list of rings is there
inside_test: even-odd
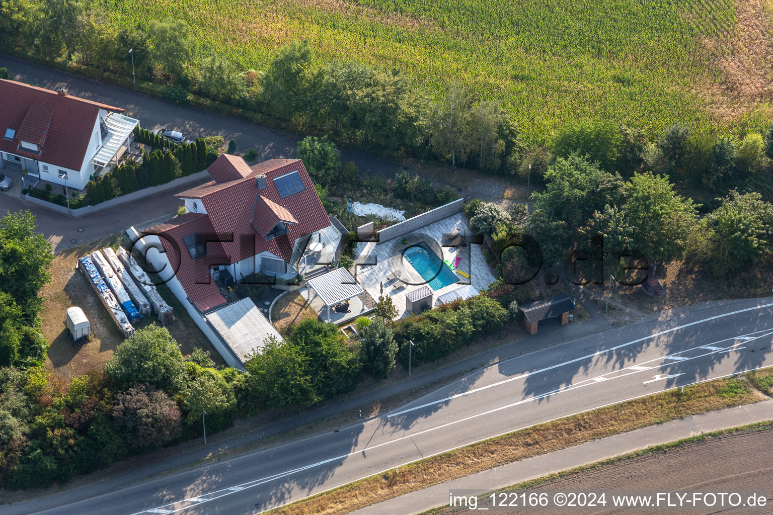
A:
[[[447,262],[446,266],[452,265],[456,258],[459,258],[454,271],[458,282],[434,290],[433,302],[436,303],[439,296],[455,290],[458,290],[459,296],[463,298],[477,295],[480,290],[493,283],[495,277],[485,261],[480,245],[472,243],[464,245],[465,242],[462,241],[457,246],[441,246],[448,244],[447,236],[455,233],[457,229],[458,235],[462,235],[462,240],[465,233],[468,235],[467,239],[470,239],[469,235],[472,231],[462,213],[424,225],[417,231],[386,242],[358,242],[356,246],[358,257],[355,263],[363,264],[356,266],[356,279],[374,299],[380,295],[391,296],[392,303],[398,311],[397,318],[407,317],[410,314],[406,309],[407,293],[421,288],[427,281],[421,278],[410,263],[407,263],[403,252],[411,246],[426,242],[436,255]],[[403,243],[404,239],[407,240],[406,243]],[[400,273],[399,279],[394,278],[395,272]],[[465,277],[464,274],[469,277]]]

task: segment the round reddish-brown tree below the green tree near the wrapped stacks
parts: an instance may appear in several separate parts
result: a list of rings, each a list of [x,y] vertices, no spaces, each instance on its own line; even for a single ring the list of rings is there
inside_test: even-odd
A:
[[[178,434],[182,419],[169,395],[147,385],[117,394],[112,415],[115,432],[133,450],[163,446]]]

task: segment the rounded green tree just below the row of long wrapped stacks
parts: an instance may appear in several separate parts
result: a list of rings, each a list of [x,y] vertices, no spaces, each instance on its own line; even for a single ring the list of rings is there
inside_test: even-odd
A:
[[[144,383],[175,393],[180,388],[183,367],[177,341],[165,327],[152,324],[118,345],[107,361],[105,374],[120,390]]]

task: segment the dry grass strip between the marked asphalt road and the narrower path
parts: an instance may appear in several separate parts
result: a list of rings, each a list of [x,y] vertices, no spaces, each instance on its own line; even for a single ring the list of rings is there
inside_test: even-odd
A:
[[[766,398],[741,378],[717,379],[679,390],[572,415],[478,442],[370,476],[271,510],[272,515],[335,515],[380,503],[427,486],[594,439],[662,424],[687,415],[751,404]]]

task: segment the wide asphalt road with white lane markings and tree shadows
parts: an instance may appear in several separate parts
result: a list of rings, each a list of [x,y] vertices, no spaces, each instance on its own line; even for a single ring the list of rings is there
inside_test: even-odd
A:
[[[616,327],[475,371],[379,418],[39,513],[257,513],[493,435],[773,366],[771,344],[773,299]]]

